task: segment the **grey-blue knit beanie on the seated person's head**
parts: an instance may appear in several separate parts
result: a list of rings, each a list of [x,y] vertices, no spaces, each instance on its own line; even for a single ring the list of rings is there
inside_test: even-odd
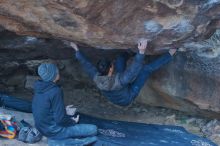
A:
[[[55,64],[52,63],[42,63],[38,67],[38,75],[43,81],[49,82],[55,80],[59,70]]]

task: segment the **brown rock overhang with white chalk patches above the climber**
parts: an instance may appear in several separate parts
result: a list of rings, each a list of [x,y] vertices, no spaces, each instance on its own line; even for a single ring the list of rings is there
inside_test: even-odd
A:
[[[0,25],[18,34],[74,40],[95,48],[155,52],[209,37],[220,26],[219,0],[1,0]]]

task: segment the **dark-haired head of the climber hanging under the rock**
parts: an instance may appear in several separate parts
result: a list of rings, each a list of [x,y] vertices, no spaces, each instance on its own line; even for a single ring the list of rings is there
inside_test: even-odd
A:
[[[110,60],[103,58],[98,61],[97,69],[101,76],[111,76],[114,72],[114,65]]]

